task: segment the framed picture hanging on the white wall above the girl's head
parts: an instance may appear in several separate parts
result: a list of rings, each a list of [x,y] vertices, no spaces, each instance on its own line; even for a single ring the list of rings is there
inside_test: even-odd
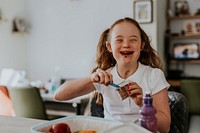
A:
[[[134,1],[134,19],[138,23],[153,22],[153,4],[152,0]]]

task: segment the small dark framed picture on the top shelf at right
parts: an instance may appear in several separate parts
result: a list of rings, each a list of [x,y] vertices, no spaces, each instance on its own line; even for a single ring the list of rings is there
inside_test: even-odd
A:
[[[189,5],[187,1],[175,1],[175,15],[189,15]]]

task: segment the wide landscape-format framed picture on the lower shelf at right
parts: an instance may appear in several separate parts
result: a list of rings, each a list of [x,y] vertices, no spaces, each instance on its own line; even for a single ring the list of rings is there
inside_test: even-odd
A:
[[[199,43],[176,43],[173,46],[173,58],[191,60],[200,58]]]

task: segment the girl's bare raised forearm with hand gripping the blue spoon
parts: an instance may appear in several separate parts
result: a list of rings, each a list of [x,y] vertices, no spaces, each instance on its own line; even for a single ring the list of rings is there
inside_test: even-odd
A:
[[[54,99],[70,100],[94,91],[93,83],[107,84],[109,81],[112,81],[112,75],[103,70],[88,77],[66,81],[56,90]]]

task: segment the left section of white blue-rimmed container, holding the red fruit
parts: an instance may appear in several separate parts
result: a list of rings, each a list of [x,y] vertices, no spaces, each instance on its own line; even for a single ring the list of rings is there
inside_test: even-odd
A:
[[[31,133],[103,133],[120,124],[92,116],[67,116],[34,125]]]

